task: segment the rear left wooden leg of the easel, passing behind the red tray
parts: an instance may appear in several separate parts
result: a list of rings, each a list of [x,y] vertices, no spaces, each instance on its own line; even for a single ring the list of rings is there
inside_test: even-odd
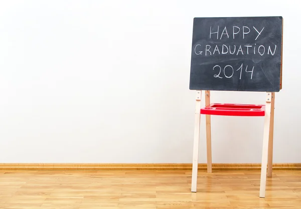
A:
[[[205,106],[210,104],[210,91],[205,91]],[[206,115],[206,138],[207,138],[207,172],[212,172],[211,154],[211,117]]]

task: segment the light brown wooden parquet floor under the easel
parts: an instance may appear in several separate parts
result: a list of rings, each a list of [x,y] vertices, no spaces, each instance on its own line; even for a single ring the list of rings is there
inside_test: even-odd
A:
[[[301,171],[0,171],[0,208],[301,208]]]

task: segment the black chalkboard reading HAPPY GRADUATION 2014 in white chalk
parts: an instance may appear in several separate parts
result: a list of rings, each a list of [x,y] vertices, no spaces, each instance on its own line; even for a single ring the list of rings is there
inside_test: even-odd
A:
[[[281,89],[282,17],[194,18],[191,90]]]

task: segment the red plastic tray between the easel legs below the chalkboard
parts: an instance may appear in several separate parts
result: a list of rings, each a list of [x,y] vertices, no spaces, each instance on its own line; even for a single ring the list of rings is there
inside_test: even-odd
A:
[[[201,114],[217,116],[264,116],[265,105],[211,103],[201,109]]]

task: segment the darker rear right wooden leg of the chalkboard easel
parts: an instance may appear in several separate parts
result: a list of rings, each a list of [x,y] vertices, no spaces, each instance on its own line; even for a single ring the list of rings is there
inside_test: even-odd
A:
[[[267,176],[272,176],[273,170],[273,136],[274,136],[274,108],[275,108],[275,93],[272,92],[271,98],[271,118],[268,139],[268,157],[267,157]]]

